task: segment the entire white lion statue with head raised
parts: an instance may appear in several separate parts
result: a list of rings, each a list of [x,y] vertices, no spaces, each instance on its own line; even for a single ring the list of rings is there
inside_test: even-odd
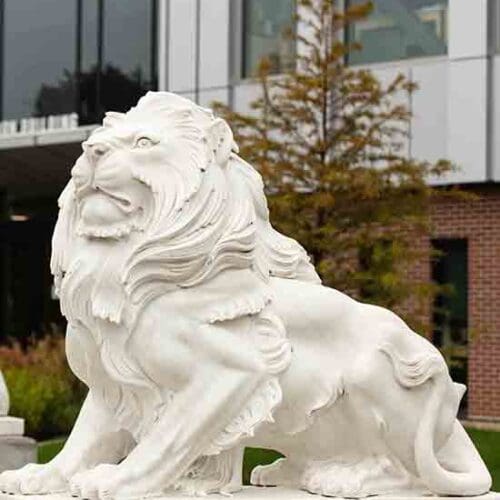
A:
[[[52,272],[89,387],[63,450],[0,475],[85,499],[252,483],[366,497],[479,495],[464,386],[393,313],[321,285],[275,231],[227,123],[168,92],[108,113],[60,197]]]

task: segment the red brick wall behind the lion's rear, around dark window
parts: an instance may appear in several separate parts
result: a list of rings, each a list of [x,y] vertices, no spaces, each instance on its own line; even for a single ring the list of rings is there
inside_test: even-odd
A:
[[[500,421],[500,187],[474,193],[434,204],[431,237],[468,241],[468,417]],[[417,244],[429,247],[430,239]],[[425,281],[430,269],[423,259],[412,274]]]

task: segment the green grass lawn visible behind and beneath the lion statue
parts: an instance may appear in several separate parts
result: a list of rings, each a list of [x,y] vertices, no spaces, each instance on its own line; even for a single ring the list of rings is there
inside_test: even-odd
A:
[[[467,429],[471,439],[477,446],[491,475],[493,476],[492,490],[500,491],[500,432],[478,429]],[[52,439],[44,441],[38,447],[39,463],[48,462],[62,448],[65,439]],[[245,462],[243,466],[243,481],[249,483],[250,472],[259,464],[274,462],[281,455],[272,450],[261,450],[259,448],[247,448],[245,450]]]

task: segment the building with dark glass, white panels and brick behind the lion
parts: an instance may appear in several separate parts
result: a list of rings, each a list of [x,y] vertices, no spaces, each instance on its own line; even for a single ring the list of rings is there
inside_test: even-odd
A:
[[[346,33],[364,47],[349,64],[418,83],[401,97],[408,155],[452,160],[458,170],[432,182],[477,195],[436,203],[421,244],[441,257],[411,272],[453,285],[429,308],[433,340],[468,382],[468,417],[500,420],[500,0],[374,3]],[[294,0],[0,0],[3,337],[60,321],[47,267],[55,199],[103,111],[149,89],[248,110],[260,58],[277,74],[294,64],[282,36],[293,11]]]

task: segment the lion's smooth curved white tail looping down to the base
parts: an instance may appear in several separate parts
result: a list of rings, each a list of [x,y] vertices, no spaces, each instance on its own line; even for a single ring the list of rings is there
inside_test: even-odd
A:
[[[466,462],[460,464],[462,471],[449,471],[438,461],[434,451],[434,436],[441,404],[449,390],[448,374],[441,371],[432,378],[434,387],[424,410],[415,438],[415,462],[418,473],[427,487],[439,495],[481,495],[489,491],[491,476],[479,453],[460,423],[455,427],[450,439],[456,441],[461,457]]]

